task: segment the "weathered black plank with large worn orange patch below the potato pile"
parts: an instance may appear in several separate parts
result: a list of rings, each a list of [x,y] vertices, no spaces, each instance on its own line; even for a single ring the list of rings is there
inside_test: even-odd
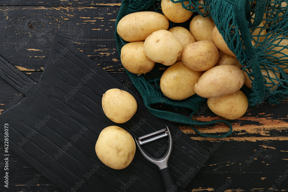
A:
[[[26,75],[31,77],[35,82],[38,82],[42,72],[41,71],[26,71]],[[113,72],[108,71],[113,77],[120,81],[132,92],[140,96],[137,89],[134,87],[130,81],[128,75],[125,72]],[[20,102],[24,96],[19,94],[14,88],[12,88],[5,81],[0,79],[1,90],[0,90],[0,110],[7,110],[16,103]],[[231,120],[233,126],[232,136],[236,137],[251,137],[251,136],[287,136],[288,127],[288,117],[286,113],[283,113],[283,107],[288,107],[288,99],[283,100],[279,105],[269,105],[260,104],[258,107],[249,107],[247,113],[238,120]],[[205,105],[203,109],[206,108]],[[223,119],[213,114],[209,109],[201,110],[203,113],[199,113],[199,117],[194,117],[199,121],[211,121],[214,119]],[[3,112],[3,111],[1,111]],[[271,115],[273,114],[273,115]],[[199,136],[187,125],[181,123],[174,123],[183,132],[189,136]],[[223,133],[228,131],[228,126],[224,124],[219,124],[215,126],[198,126],[200,132],[213,134],[213,133]]]

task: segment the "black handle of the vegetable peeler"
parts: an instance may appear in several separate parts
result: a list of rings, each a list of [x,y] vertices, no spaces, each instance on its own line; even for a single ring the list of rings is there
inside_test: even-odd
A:
[[[180,192],[182,191],[178,185],[176,185],[175,180],[173,178],[173,175],[169,169],[169,167],[166,167],[164,169],[160,169],[160,174],[163,179],[165,192]]]

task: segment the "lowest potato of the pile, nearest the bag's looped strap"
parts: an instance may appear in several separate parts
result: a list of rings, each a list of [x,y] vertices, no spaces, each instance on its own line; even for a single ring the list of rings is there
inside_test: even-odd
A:
[[[208,98],[207,104],[213,113],[226,119],[242,117],[249,105],[247,96],[241,90],[219,98]]]

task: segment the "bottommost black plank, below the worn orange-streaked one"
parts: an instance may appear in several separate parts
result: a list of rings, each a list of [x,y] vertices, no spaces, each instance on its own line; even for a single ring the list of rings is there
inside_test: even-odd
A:
[[[220,187],[222,189],[226,187],[226,191],[266,192],[267,188],[272,189],[273,185],[278,191],[288,188],[287,178],[285,180],[283,177],[283,182],[279,180],[279,177],[284,175],[287,170],[287,137],[276,139],[272,137],[232,137],[219,140],[192,137],[192,139],[209,151],[211,157],[185,191],[221,191]],[[0,156],[3,156],[3,151],[3,147],[0,147]],[[27,192],[60,192],[43,176],[40,176],[37,183],[35,182],[28,189],[28,182],[38,172],[13,153],[9,154],[14,160],[10,162],[11,185],[9,190],[23,191],[22,188],[24,188]],[[249,163],[247,164],[247,162]],[[3,161],[1,166],[3,166]],[[18,170],[21,172],[19,173]],[[226,185],[226,179],[232,181],[223,187]]]

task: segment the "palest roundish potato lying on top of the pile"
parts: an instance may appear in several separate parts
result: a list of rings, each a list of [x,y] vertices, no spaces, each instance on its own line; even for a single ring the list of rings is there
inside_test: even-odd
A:
[[[144,53],[152,61],[172,65],[182,53],[181,41],[166,30],[153,32],[144,41]]]

